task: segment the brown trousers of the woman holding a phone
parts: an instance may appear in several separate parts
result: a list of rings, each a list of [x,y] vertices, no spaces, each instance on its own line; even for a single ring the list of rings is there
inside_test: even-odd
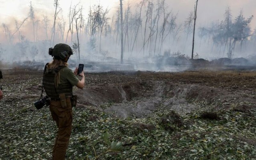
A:
[[[70,98],[66,99],[66,105],[66,108],[62,108],[60,100],[51,100],[50,111],[52,119],[56,121],[58,126],[58,132],[52,149],[53,160],[64,160],[68,148],[68,141],[72,130],[72,107]]]

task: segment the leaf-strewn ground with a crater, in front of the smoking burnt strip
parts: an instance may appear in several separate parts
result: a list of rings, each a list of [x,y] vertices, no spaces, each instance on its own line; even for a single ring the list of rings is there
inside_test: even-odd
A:
[[[42,74],[3,71],[0,159],[51,157],[56,126],[48,108],[33,106]],[[255,71],[85,76],[86,87],[74,87],[78,104],[67,159],[256,158]],[[122,142],[121,151],[110,150],[106,137]]]

